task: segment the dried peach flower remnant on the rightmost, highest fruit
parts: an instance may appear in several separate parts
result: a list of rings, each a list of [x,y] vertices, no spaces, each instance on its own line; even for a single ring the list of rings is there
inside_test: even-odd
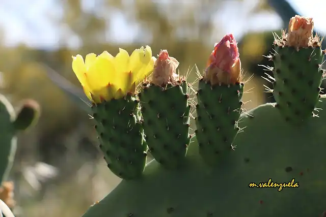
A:
[[[308,47],[313,38],[314,21],[311,17],[295,15],[290,19],[287,34],[288,46]]]

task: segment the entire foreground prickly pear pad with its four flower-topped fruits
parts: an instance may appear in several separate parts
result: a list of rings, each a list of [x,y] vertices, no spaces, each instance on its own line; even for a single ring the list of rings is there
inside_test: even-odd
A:
[[[135,50],[136,55],[125,55],[124,60],[120,58],[122,50],[116,57],[86,57],[86,63],[80,56],[74,57],[73,70],[86,95],[97,105],[114,104],[112,99],[126,101],[130,94],[137,97],[137,81],[145,78],[139,96],[142,112],[128,115],[142,116],[138,123],[146,135],[143,142],[147,140],[156,159],[143,171],[143,167],[130,163],[130,158],[131,162],[143,159],[141,154],[130,152],[135,143],[144,144],[139,135],[119,131],[115,137],[119,139],[113,140],[108,132],[114,129],[99,132],[105,150],[124,157],[114,163],[122,171],[118,175],[123,180],[83,217],[324,216],[326,97],[319,91],[325,52],[319,47],[318,37],[312,35],[312,27],[311,18],[291,18],[289,32],[275,39],[276,49],[270,56],[275,67],[267,67],[275,76],[267,79],[274,81],[275,89],[270,91],[276,104],[261,105],[242,114],[244,83],[236,41],[229,34],[217,43],[194,87],[197,131],[192,138],[185,128],[189,110],[184,97],[187,90],[182,84],[186,81],[176,79],[176,60],[166,51],[164,55],[161,51],[156,60],[150,57],[148,47],[147,51]],[[85,65],[97,71],[88,74]],[[115,78],[119,70],[125,77],[118,82]],[[148,78],[151,71],[152,77]],[[95,81],[101,85],[95,85]],[[95,121],[103,125],[101,120],[111,120],[110,126],[115,126],[116,120],[121,120],[119,125],[126,124],[118,114],[127,119],[122,108],[115,112],[107,108]],[[137,132],[143,134],[139,129]],[[243,132],[239,133],[240,129]],[[273,139],[268,139],[270,136]],[[122,140],[130,144],[117,142]]]

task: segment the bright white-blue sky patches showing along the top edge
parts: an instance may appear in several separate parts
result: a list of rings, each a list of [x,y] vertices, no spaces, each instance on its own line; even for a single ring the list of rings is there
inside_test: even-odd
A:
[[[67,26],[58,26],[48,19],[58,17],[63,13],[60,6],[56,4],[58,3],[57,0],[0,1],[2,3],[0,8],[0,26],[3,27],[5,32],[5,38],[2,43],[6,46],[24,43],[31,47],[50,49],[58,46],[59,35],[72,35]],[[100,0],[83,0],[85,10],[92,10],[92,8],[96,7],[96,1]],[[191,0],[188,1],[191,2]],[[281,19],[272,13],[258,14],[252,16],[249,20],[241,19],[258,2],[259,0],[246,0],[239,4],[236,1],[226,1],[219,13],[214,15],[214,20],[219,22],[219,26],[221,26],[221,21],[223,21],[222,27],[224,32],[233,33],[237,38],[247,31],[276,30],[281,28]],[[309,0],[309,4],[307,4],[306,0],[288,0],[288,2],[302,15],[312,16],[315,28],[322,34],[326,33],[323,17],[324,8],[326,8],[325,0]],[[230,14],[232,14],[233,19],[229,19]],[[107,40],[117,43],[132,41],[137,35],[139,28],[135,25],[130,26],[122,13],[112,12],[111,15],[115,18],[111,21],[111,29],[107,31]],[[74,36],[69,37],[67,43],[70,47],[80,46],[80,41]]]

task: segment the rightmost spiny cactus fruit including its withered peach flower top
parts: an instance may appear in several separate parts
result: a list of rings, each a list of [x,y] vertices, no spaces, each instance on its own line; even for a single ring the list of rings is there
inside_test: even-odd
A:
[[[298,26],[304,29],[303,34],[298,32]],[[289,23],[289,33],[286,36],[283,32],[275,40],[274,52],[269,56],[275,66],[271,69],[274,75],[271,80],[276,106],[293,124],[302,123],[318,112],[315,107],[320,98],[325,52],[320,47],[320,38],[311,34],[312,28],[312,18],[294,17]]]

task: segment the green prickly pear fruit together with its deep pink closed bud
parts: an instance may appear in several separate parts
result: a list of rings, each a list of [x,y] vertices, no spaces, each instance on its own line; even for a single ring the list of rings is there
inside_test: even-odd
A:
[[[230,52],[230,57],[226,58],[225,52]],[[212,166],[234,148],[243,87],[238,47],[233,35],[226,35],[215,45],[196,94],[199,153]]]

